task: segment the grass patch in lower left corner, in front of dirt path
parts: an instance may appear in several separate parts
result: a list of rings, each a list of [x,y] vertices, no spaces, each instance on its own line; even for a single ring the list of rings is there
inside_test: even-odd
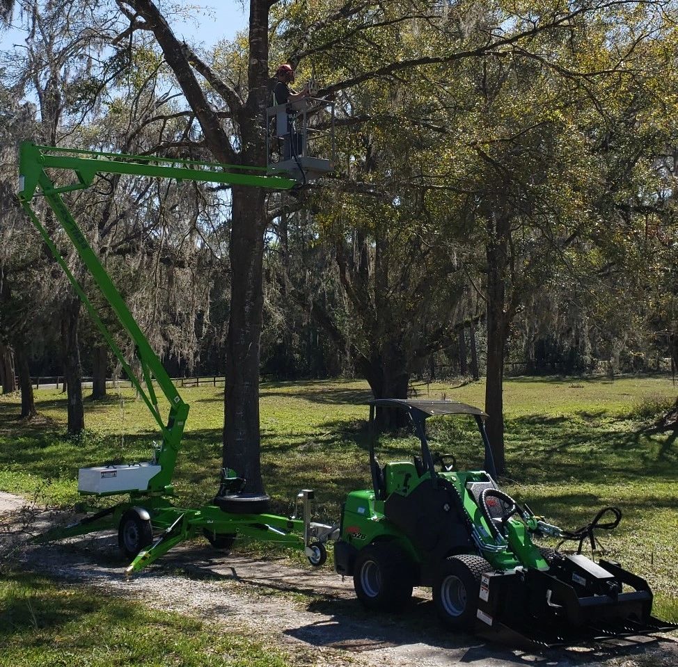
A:
[[[45,577],[0,581],[0,667],[286,667],[276,649],[209,622]]]

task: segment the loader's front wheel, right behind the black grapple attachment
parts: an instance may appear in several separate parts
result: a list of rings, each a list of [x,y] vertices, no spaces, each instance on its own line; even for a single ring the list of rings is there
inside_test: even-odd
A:
[[[478,612],[480,578],[492,572],[480,556],[452,556],[436,576],[433,602],[442,624],[453,630],[470,629]]]

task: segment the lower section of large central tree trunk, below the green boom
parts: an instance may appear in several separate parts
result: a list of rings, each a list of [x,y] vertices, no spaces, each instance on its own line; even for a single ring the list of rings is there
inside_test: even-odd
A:
[[[262,327],[262,261],[265,193],[232,188],[230,319],[226,339],[223,466],[246,479],[245,490],[263,490],[259,433],[259,341]]]

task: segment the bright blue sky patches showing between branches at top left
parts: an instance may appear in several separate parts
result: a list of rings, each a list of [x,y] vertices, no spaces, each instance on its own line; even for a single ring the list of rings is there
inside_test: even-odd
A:
[[[226,0],[220,3],[196,3],[205,8],[198,11],[192,20],[171,20],[171,25],[179,38],[183,38],[194,46],[211,47],[220,39],[232,39],[237,31],[247,24],[246,10],[239,1]],[[13,44],[22,44],[24,31],[19,26],[18,17],[14,26],[0,33],[0,51],[12,48]]]

